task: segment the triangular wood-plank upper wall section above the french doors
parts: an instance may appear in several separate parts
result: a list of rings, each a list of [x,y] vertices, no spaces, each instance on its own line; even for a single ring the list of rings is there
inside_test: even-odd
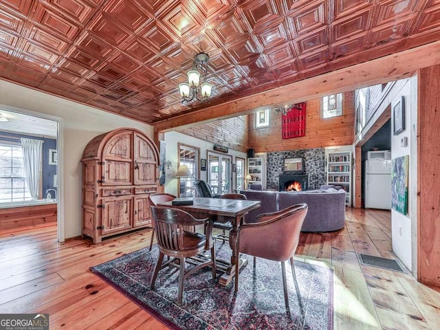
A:
[[[248,115],[216,120],[206,124],[177,129],[179,133],[221,144],[236,151],[246,152],[249,144]]]

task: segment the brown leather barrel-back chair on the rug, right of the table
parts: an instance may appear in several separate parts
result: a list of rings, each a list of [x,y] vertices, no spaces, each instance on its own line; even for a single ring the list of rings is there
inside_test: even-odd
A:
[[[289,206],[284,210],[263,213],[257,217],[256,223],[243,223],[236,234],[236,265],[239,270],[239,253],[256,256],[272,261],[281,261],[283,274],[284,300],[286,307],[289,306],[289,294],[287,292],[285,261],[290,259],[292,276],[298,301],[301,302],[300,289],[296,281],[294,254],[298,247],[301,226],[307,214],[307,204],[300,203]],[[235,273],[235,291],[239,291],[239,272]]]

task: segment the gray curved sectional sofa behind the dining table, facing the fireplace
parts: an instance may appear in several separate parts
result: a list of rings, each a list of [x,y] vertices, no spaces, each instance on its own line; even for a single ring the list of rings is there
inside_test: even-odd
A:
[[[261,207],[246,214],[245,221],[252,223],[261,213],[276,212],[297,203],[307,203],[303,232],[331,232],[344,228],[345,191],[336,189],[302,192],[241,190],[251,201],[261,201]]]

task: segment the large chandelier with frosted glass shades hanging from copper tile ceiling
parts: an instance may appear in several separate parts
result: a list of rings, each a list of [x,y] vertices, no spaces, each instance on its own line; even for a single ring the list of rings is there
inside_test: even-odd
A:
[[[192,69],[187,74],[188,83],[179,84],[182,104],[195,100],[206,101],[211,96],[212,85],[205,80],[208,74],[208,61],[209,56],[206,53],[202,52],[195,56]],[[203,83],[200,83],[200,76],[203,78]]]

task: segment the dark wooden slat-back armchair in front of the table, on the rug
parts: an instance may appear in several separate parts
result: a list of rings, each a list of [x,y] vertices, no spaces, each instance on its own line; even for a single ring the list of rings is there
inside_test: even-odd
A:
[[[209,218],[195,219],[191,214],[177,208],[166,208],[163,206],[151,206],[151,212],[155,221],[157,234],[157,246],[159,247],[159,258],[155,265],[153,276],[151,277],[151,289],[154,289],[155,281],[159,270],[168,265],[177,265],[175,259],[179,259],[179,291],[177,303],[181,305],[184,290],[184,279],[190,274],[197,272],[202,267],[212,267],[212,278],[215,279],[215,247],[212,239],[212,221]],[[206,225],[206,234],[198,232],[188,232],[185,227],[193,225]],[[203,251],[210,250],[211,259],[199,263],[190,270],[185,270],[185,259],[190,256],[197,256]],[[171,259],[164,261],[164,256],[170,256]]]

